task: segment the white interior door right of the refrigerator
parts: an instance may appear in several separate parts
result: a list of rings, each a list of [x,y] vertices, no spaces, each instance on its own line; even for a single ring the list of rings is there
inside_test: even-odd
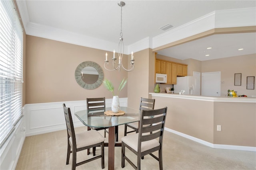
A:
[[[202,73],[202,96],[220,96],[220,72]]]

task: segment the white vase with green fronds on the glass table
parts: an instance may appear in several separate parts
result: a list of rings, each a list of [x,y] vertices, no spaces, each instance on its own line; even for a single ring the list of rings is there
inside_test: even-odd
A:
[[[113,94],[113,100],[112,100],[112,104],[111,104],[111,109],[113,113],[118,113],[119,109],[120,109],[120,104],[119,104],[119,98],[118,98],[118,94],[119,92],[124,88],[124,86],[127,84],[127,80],[128,79],[123,79],[122,82],[120,83],[119,87],[118,87],[118,92],[117,95],[115,95],[114,93],[114,85],[112,84],[112,82],[110,82],[110,80],[103,80],[103,84],[106,87],[106,89],[110,92],[112,92]]]

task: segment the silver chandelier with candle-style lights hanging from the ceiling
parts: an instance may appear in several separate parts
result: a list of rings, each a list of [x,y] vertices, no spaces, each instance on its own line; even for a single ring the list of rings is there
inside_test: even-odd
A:
[[[131,68],[130,69],[126,69],[124,68],[123,66],[123,63],[122,63],[122,59],[123,59],[123,54],[124,54],[124,43],[123,43],[123,33],[122,33],[122,7],[125,6],[125,3],[120,1],[118,2],[118,5],[121,6],[121,32],[120,32],[120,38],[119,38],[119,43],[118,43],[118,64],[116,64],[116,57],[115,57],[115,50],[113,51],[113,58],[112,58],[112,61],[113,61],[113,70],[109,70],[108,68],[106,68],[106,64],[108,65],[108,53],[106,53],[106,60],[105,60],[105,63],[104,63],[104,67],[106,68],[106,70],[109,70],[109,71],[114,71],[114,70],[118,70],[120,72],[120,69],[123,68],[124,70],[130,72],[134,69],[134,58],[133,58],[133,52],[132,52],[132,56],[131,56]]]

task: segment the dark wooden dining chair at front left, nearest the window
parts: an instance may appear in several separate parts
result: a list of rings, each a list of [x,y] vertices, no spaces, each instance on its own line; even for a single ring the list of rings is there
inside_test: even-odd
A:
[[[76,133],[74,131],[73,120],[71,116],[71,111],[69,107],[63,104],[64,115],[66,119],[67,133],[68,133],[68,152],[66,164],[69,164],[70,153],[72,153],[72,170],[76,169],[76,166],[85,164],[92,160],[101,158],[101,168],[105,168],[104,165],[104,137],[100,135],[96,130],[82,131]],[[93,158],[84,160],[82,162],[76,163],[76,152],[81,150],[90,149],[92,147],[101,147],[101,154]],[[72,149],[72,150],[71,150]]]

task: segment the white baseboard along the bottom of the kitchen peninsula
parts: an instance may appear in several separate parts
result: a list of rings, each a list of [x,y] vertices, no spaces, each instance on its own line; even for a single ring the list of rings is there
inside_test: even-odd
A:
[[[181,133],[181,132],[178,132],[178,131],[175,131],[175,130],[172,130],[172,129],[169,129],[167,127],[164,128],[164,130],[168,131],[168,132],[171,132],[171,133],[174,133],[176,135],[179,135],[179,136],[182,136],[184,138],[187,138],[187,139],[190,139],[192,141],[195,141],[195,142],[198,142],[198,143],[201,143],[203,145],[206,145],[208,147],[211,147],[211,148],[214,148],[214,149],[231,149],[231,150],[244,150],[244,151],[253,151],[253,152],[256,152],[256,147],[246,147],[246,146],[237,146],[237,145],[219,145],[219,144],[213,144],[213,143],[210,143],[210,142],[206,142],[202,139],[198,139],[196,137],[192,137],[190,135],[186,135],[184,133]]]

